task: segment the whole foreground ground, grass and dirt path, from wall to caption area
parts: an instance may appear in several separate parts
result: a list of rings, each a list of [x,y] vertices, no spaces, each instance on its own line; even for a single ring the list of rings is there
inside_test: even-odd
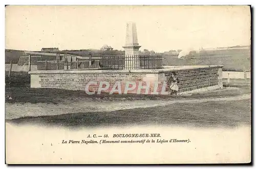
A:
[[[168,95],[87,95],[11,84],[6,87],[6,122],[69,128],[250,125],[250,90],[250,86],[225,87],[175,99]]]

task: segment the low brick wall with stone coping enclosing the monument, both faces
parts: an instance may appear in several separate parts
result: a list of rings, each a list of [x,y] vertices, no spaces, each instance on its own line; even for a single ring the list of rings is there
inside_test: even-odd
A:
[[[159,82],[157,92],[163,94],[162,89],[168,89],[168,85],[164,86],[164,83],[173,71],[177,73],[180,81],[180,93],[212,86],[222,88],[221,66],[184,66],[155,70],[38,70],[29,74],[32,88],[85,90],[88,82],[93,81],[97,84],[90,85],[90,91],[97,91],[100,82],[109,82],[110,87],[104,92],[110,92],[115,83],[120,82],[123,93],[126,82],[134,82],[136,88],[128,93],[137,93],[139,83],[143,82],[143,86],[150,84],[151,94],[154,85]],[[144,92],[145,89],[141,89],[141,93]]]

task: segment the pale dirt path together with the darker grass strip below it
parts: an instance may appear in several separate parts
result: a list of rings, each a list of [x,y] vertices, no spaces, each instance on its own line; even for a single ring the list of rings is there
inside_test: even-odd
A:
[[[140,101],[73,105],[7,106],[7,120],[18,124],[65,127],[123,125],[192,125],[196,127],[250,124],[250,95],[219,99]],[[19,118],[22,117],[22,118]]]

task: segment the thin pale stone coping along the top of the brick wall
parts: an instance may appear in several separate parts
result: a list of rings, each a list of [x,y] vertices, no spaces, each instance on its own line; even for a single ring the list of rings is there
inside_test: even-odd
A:
[[[36,70],[29,71],[29,74],[127,74],[127,73],[142,73],[142,74],[160,74],[168,71],[191,70],[201,68],[223,67],[223,65],[185,65],[185,66],[165,66],[161,69],[135,69],[135,70],[102,70],[100,68],[87,69],[61,69],[61,70]]]

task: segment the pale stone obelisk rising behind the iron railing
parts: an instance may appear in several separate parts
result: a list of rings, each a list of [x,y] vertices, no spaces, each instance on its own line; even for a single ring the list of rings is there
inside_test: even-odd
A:
[[[135,22],[127,22],[125,45],[123,46],[125,50],[124,69],[139,68],[138,55],[140,47]]]

